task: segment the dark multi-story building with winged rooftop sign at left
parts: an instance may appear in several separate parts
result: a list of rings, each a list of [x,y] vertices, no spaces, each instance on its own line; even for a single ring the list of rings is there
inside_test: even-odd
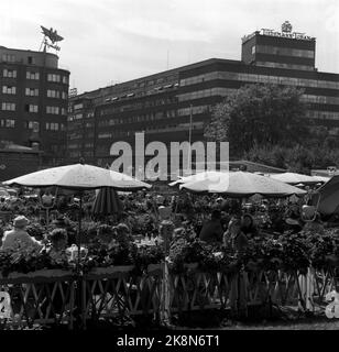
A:
[[[57,55],[0,46],[0,143],[42,151],[43,166],[63,163],[68,80]]]

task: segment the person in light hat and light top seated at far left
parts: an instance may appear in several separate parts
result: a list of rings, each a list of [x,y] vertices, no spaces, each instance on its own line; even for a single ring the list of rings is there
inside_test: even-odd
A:
[[[2,250],[18,250],[20,248],[36,246],[43,248],[43,245],[34,238],[30,237],[25,231],[25,227],[29,224],[29,219],[24,216],[19,216],[13,221],[13,230],[6,231],[2,239]]]

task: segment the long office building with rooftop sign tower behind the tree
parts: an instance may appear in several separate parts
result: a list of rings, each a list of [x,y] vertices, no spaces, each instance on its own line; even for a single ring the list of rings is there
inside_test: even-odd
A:
[[[77,95],[69,100],[67,151],[110,165],[112,143],[204,141],[211,108],[249,84],[304,89],[307,119],[339,135],[339,75],[315,67],[316,40],[292,32],[261,30],[242,38],[241,61],[210,58],[196,64]],[[307,119],[305,123],[307,123]],[[190,131],[190,133],[189,133]]]

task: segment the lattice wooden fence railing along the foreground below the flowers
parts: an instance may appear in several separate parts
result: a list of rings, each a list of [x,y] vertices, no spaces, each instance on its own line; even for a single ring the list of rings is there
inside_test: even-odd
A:
[[[200,272],[188,265],[184,273],[170,273],[164,285],[164,264],[150,265],[135,274],[133,266],[96,268],[80,280],[72,272],[42,271],[0,277],[0,289],[11,297],[12,318],[2,328],[17,323],[67,324],[73,329],[75,311],[83,323],[100,318],[168,312],[227,309],[240,295],[234,292],[234,274]],[[282,271],[240,273],[247,305],[299,306],[303,310],[324,309],[326,295],[337,288],[336,271],[308,270],[307,275]],[[164,289],[165,287],[165,289]],[[236,293],[236,296],[234,296]],[[167,294],[167,296],[165,296]],[[165,299],[168,297],[168,299]],[[166,301],[164,307],[164,301]],[[0,304],[1,305],[1,304]]]

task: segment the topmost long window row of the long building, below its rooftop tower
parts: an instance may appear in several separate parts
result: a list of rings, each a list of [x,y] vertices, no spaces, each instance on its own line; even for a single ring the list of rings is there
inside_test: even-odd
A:
[[[269,76],[269,75],[258,75],[258,74],[240,74],[240,73],[230,73],[230,72],[212,72],[212,73],[182,79],[181,86],[190,86],[190,85],[199,84],[207,80],[214,80],[214,79],[339,89],[339,81],[282,77],[282,76],[273,76],[273,75]]]

